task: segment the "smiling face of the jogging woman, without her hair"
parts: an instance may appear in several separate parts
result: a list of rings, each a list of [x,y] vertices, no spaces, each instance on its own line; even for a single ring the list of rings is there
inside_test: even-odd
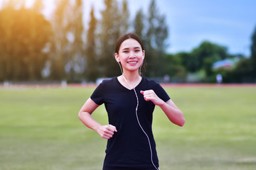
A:
[[[115,54],[117,62],[121,62],[122,68],[126,71],[136,71],[142,65],[145,51],[142,46],[132,38],[122,42],[118,54]]]

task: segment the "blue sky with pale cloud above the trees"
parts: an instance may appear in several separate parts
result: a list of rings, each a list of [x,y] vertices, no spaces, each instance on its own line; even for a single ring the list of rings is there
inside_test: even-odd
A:
[[[90,1],[90,2],[89,2]],[[92,0],[87,0],[88,6]],[[119,0],[122,1],[122,0]],[[139,8],[147,12],[151,0],[127,0],[131,17]],[[103,0],[94,0],[96,10]],[[169,26],[168,52],[190,52],[203,40],[228,47],[231,54],[250,55],[256,27],[254,0],[156,0]]]

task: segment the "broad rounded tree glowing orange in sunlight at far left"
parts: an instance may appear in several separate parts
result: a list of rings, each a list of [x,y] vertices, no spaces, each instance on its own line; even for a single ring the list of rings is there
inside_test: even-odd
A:
[[[0,21],[0,79],[41,79],[48,60],[50,23],[37,11],[10,4],[0,11]]]

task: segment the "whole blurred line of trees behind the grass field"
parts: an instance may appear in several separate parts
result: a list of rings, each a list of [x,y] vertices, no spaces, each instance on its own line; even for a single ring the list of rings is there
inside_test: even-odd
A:
[[[105,0],[101,17],[90,8],[85,28],[82,0],[55,0],[50,19],[42,14],[43,0],[27,8],[24,1],[0,4],[0,81],[68,80],[95,82],[100,77],[120,74],[114,60],[114,45],[124,33],[142,38],[146,50],[146,77],[171,77],[186,82],[188,74],[202,73],[200,81],[213,82],[222,74],[225,82],[255,82],[256,28],[252,35],[251,56],[231,55],[225,46],[202,42],[191,52],[169,54],[166,16],[155,0],[147,11],[140,8],[130,17],[127,0]],[[230,69],[212,69],[213,63],[239,59]]]

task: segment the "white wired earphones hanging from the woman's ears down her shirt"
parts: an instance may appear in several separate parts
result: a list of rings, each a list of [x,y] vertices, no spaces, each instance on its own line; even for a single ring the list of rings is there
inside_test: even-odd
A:
[[[144,60],[144,57],[142,58],[142,60]],[[117,58],[117,63],[119,64],[119,67],[120,67],[121,72],[122,72],[122,67],[121,67],[121,64],[119,63],[119,58]],[[142,65],[143,65],[143,63],[142,63]],[[139,75],[141,74],[142,65],[139,67]],[[122,77],[124,77],[123,72],[122,72]],[[139,122],[139,117],[138,117],[138,113],[137,113],[138,108],[139,108],[139,98],[138,98],[137,92],[136,92],[136,90],[135,90],[136,87],[132,87],[132,86],[128,83],[127,79],[125,79],[125,77],[124,77],[124,81],[126,81],[127,84],[128,84],[128,86],[130,86],[130,87],[134,90],[134,94],[135,94],[135,96],[136,96],[136,98],[137,98],[137,106],[136,106],[136,109],[135,109],[135,114],[136,114],[137,122],[138,122],[138,124],[139,124],[139,127],[142,129],[142,131],[143,131],[144,134],[146,135],[146,139],[147,139],[148,142],[149,142],[149,150],[150,150],[150,155],[151,155],[151,163],[153,164],[153,166],[154,166],[154,168],[155,168],[156,170],[160,170],[160,169],[158,169],[158,168],[156,167],[156,165],[155,165],[154,162],[153,162],[153,153],[152,153],[152,149],[151,149],[151,142],[150,142],[150,140],[149,140],[149,136],[146,134],[145,130],[142,128],[142,125],[141,125],[140,122]],[[139,82],[139,81],[138,81],[138,82]],[[137,82],[137,83],[138,83],[138,82]]]

